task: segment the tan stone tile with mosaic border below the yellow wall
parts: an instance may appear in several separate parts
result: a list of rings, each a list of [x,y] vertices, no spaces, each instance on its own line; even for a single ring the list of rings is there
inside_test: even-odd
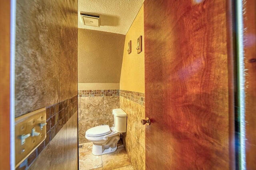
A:
[[[124,147],[136,170],[145,169],[144,93],[120,90],[120,108],[127,113],[127,129],[123,133]]]

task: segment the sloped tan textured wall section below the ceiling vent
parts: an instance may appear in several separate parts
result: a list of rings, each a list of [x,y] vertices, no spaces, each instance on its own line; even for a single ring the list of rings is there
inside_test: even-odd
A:
[[[124,39],[121,34],[78,29],[78,82],[119,83]]]

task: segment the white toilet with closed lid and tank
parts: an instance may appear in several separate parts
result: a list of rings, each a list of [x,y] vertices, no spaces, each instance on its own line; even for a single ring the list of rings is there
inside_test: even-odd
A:
[[[115,152],[120,134],[126,132],[127,114],[122,109],[113,109],[114,127],[100,125],[88,129],[85,138],[92,142],[92,154],[102,155]]]

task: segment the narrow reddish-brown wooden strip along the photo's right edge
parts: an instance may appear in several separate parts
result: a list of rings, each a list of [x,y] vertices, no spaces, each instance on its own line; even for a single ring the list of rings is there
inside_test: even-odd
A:
[[[256,1],[244,0],[246,168],[256,169]]]

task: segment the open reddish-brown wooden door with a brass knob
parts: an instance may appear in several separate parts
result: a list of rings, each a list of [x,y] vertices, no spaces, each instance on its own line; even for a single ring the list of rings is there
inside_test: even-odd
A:
[[[234,168],[229,9],[224,0],[145,0],[147,170]]]

